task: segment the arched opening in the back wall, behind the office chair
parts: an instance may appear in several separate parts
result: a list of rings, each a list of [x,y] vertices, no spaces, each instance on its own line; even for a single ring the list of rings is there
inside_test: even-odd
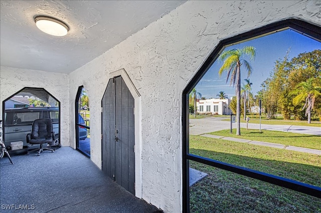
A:
[[[60,101],[44,88],[24,87],[3,101],[3,138],[11,150],[11,143],[23,141],[23,147],[38,148],[29,144],[27,133],[31,132],[35,119],[50,118],[53,122],[55,141],[50,146],[60,146]]]

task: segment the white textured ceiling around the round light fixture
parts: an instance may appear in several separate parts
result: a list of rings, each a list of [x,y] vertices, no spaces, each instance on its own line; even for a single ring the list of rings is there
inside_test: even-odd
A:
[[[70,73],[186,0],[1,0],[1,65]],[[66,22],[67,35],[40,31],[34,16]]]

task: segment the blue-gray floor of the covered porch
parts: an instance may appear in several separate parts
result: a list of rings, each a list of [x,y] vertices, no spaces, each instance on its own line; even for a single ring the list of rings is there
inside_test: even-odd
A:
[[[162,212],[71,147],[12,159],[14,164],[7,157],[0,160],[1,212]]]

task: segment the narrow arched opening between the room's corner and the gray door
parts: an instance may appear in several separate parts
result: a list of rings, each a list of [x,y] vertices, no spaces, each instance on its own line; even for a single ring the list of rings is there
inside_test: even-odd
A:
[[[90,157],[90,107],[87,91],[79,86],[76,101],[76,149]]]

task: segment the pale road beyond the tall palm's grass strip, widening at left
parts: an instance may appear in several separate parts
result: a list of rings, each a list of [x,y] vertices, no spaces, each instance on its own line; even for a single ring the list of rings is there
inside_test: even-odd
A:
[[[230,129],[230,121],[224,121],[223,119],[226,119],[226,117],[205,117],[201,119],[190,119],[190,134],[199,135],[223,129]],[[248,127],[251,129],[260,129],[260,124],[251,123],[250,120]],[[236,123],[232,123],[232,128],[236,128]],[[241,123],[241,128],[246,128],[246,123]],[[314,134],[321,136],[321,127],[314,126],[261,124],[261,129],[289,131],[301,134]]]

